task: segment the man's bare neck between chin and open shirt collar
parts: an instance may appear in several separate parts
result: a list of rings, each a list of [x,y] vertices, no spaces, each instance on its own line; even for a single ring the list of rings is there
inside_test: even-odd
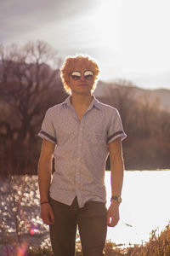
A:
[[[71,104],[76,107],[76,106],[86,106],[88,107],[90,105],[90,103],[93,100],[93,96],[91,96],[91,94],[89,95],[75,95],[72,94],[71,95]]]

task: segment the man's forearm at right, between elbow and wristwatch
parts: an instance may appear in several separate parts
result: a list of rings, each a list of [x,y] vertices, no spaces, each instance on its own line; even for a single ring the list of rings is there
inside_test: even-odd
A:
[[[122,159],[111,161],[111,192],[112,195],[122,194],[124,163]]]

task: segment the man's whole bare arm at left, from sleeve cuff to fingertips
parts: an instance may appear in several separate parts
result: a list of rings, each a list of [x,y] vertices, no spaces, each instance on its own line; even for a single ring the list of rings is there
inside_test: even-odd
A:
[[[42,151],[40,154],[37,170],[41,202],[48,201],[54,147],[54,143],[51,143],[47,140],[42,141]],[[54,213],[49,203],[44,203],[41,205],[41,218],[45,224],[54,224]]]

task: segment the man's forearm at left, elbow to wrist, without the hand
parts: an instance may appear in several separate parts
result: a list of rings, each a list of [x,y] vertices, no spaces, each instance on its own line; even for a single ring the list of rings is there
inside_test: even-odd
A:
[[[38,184],[40,201],[48,201],[49,186],[51,183],[52,160],[42,160],[38,163]]]

